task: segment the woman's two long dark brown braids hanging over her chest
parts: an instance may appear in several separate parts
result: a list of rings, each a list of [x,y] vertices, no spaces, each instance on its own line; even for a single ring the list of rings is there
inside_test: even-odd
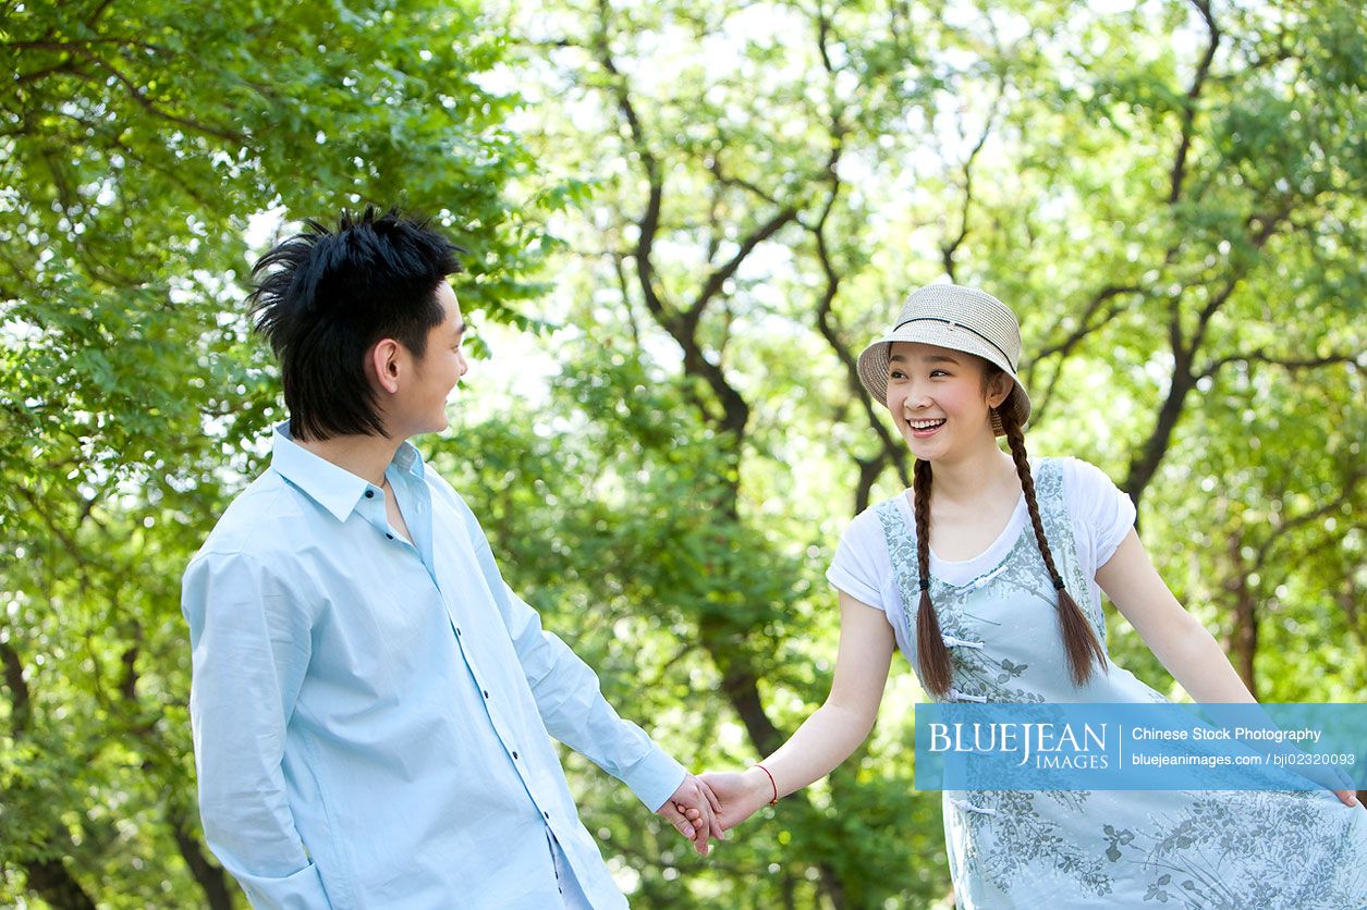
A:
[[[986,361],[984,361],[986,363]],[[994,363],[986,363],[984,384],[990,383],[1002,370]],[[1064,646],[1068,652],[1068,664],[1073,682],[1084,685],[1092,674],[1094,661],[1106,665],[1106,650],[1102,648],[1096,633],[1079,608],[1077,601],[1064,586],[1064,577],[1054,563],[1054,555],[1048,549],[1044,537],[1044,525],[1039,518],[1039,503],[1035,500],[1035,478],[1029,471],[1029,462],[1025,456],[1025,433],[1014,419],[1016,410],[1010,407],[1012,394],[995,409],[1006,430],[1006,441],[1012,450],[1012,460],[1016,462],[1016,474],[1020,477],[1021,489],[1025,493],[1025,504],[1029,508],[1031,525],[1035,529],[1035,540],[1039,542],[1040,556],[1058,592],[1058,624],[1064,634]],[[939,618],[931,604],[931,465],[917,459],[915,466],[915,480],[912,481],[916,515],[916,566],[920,577],[920,605],[916,611],[916,657],[921,665],[921,680],[930,693],[938,698],[949,694],[953,679],[949,648],[940,635]]]

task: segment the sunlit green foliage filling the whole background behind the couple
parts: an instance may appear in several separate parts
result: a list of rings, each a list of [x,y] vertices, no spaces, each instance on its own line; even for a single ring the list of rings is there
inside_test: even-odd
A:
[[[343,204],[433,215],[465,312],[541,332],[548,389],[477,380],[421,444],[685,764],[828,691],[824,567],[908,470],[853,357],[945,276],[1021,314],[1032,454],[1139,501],[1260,697],[1367,690],[1355,4],[0,8],[0,902],[241,903],[197,832],[179,575],[282,415],[245,268]],[[707,861],[566,767],[637,906],[928,906],[919,698],[898,659],[869,742]]]

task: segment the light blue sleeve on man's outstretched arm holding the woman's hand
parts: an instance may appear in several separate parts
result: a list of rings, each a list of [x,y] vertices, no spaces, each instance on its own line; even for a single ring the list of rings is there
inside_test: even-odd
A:
[[[463,506],[463,501],[462,501]],[[684,765],[603,697],[597,675],[558,635],[541,629],[540,615],[503,582],[488,540],[469,507],[463,508],[480,570],[507,626],[513,646],[547,732],[608,772],[655,812],[688,776]]]

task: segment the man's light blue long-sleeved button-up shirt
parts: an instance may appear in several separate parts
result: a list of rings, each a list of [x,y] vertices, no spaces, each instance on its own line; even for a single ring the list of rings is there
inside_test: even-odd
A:
[[[405,443],[384,493],[275,432],[185,574],[205,838],[257,907],[622,907],[551,736],[651,810],[684,768],[499,577]],[[547,735],[550,734],[550,735]],[[569,892],[569,888],[566,888]]]

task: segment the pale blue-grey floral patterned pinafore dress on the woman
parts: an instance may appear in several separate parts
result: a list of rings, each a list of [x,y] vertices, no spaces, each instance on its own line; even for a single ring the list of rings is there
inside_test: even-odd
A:
[[[1055,563],[1094,629],[1053,459],[1035,471]],[[915,532],[895,500],[876,507],[916,661]],[[949,701],[1162,702],[1110,663],[1068,675],[1048,571],[1025,525],[1007,556],[965,585],[931,578],[954,656]],[[1367,812],[1329,791],[946,791],[945,839],[960,907],[1367,907]]]

